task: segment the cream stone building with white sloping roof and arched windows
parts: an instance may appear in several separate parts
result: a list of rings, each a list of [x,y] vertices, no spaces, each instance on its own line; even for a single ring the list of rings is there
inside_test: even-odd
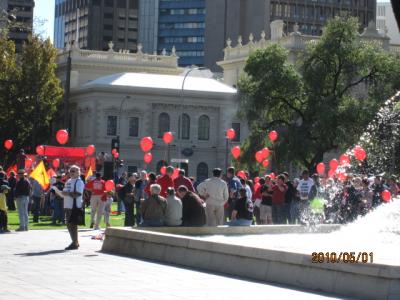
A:
[[[58,55],[58,76],[64,84],[68,56],[69,146],[94,144],[97,153],[110,153],[111,140],[120,136],[120,171],[155,171],[164,161],[181,158],[187,159],[182,167],[190,176],[204,179],[214,167],[225,167],[226,130],[236,129],[234,145],[247,135],[245,122],[236,117],[236,89],[209,76],[198,77],[204,75],[200,70],[185,79],[174,52],[148,55],[140,45],[137,53],[114,52],[112,44],[109,51],[68,48]],[[169,147],[162,140],[166,131],[174,133]],[[139,146],[145,136],[155,143],[150,165],[145,165]]]

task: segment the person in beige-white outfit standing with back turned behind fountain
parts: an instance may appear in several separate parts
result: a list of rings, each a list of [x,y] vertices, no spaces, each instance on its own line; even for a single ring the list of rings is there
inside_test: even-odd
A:
[[[197,191],[206,201],[207,226],[224,224],[224,205],[228,201],[228,185],[221,179],[222,171],[219,168],[213,170],[213,177],[209,178],[197,187]]]

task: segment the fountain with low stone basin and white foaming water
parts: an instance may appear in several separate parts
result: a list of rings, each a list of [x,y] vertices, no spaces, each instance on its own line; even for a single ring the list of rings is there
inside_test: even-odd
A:
[[[400,199],[396,199],[340,229],[338,225],[107,228],[102,251],[340,296],[400,299],[399,228]],[[324,262],[318,262],[321,259]]]

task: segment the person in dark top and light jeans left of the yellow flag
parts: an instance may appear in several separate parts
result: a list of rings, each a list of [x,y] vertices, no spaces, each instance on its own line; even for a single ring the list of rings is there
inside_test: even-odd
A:
[[[26,175],[24,169],[18,170],[18,181],[14,191],[19,217],[19,227],[16,231],[28,231],[28,204],[32,188]]]

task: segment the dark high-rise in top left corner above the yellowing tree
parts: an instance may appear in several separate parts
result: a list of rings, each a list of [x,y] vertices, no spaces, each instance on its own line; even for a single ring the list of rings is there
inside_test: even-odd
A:
[[[11,15],[15,17],[15,19],[12,19],[14,24],[9,28],[9,37],[15,42],[17,52],[20,52],[22,44],[28,39],[29,34],[32,33],[35,1],[1,0],[0,2],[2,18],[7,19]],[[6,26],[7,20],[1,23],[0,26]]]

